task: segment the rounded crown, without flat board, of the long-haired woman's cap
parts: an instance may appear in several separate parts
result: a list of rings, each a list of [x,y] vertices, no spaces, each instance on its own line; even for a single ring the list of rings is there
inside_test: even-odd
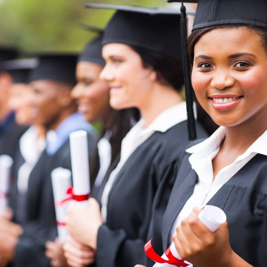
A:
[[[89,42],[83,52],[80,54],[78,61],[89,61],[105,66],[106,62],[102,57],[102,35]]]

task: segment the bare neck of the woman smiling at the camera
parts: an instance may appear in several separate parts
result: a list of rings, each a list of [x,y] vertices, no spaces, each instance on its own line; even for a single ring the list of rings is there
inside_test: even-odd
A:
[[[223,146],[244,153],[267,130],[267,107],[264,111],[234,127],[225,127]]]

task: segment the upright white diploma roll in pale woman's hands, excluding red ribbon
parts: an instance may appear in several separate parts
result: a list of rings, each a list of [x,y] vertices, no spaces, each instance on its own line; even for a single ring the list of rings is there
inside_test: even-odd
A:
[[[70,133],[70,157],[72,167],[73,193],[87,195],[90,193],[89,158],[87,132],[79,130]],[[79,201],[78,206],[88,206],[88,201]]]

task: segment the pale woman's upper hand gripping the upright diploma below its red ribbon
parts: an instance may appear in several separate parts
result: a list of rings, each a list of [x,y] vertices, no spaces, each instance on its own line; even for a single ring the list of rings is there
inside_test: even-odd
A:
[[[96,199],[90,198],[88,202],[88,207],[81,209],[76,201],[72,201],[65,223],[73,239],[96,250],[97,232],[102,225],[101,212]]]

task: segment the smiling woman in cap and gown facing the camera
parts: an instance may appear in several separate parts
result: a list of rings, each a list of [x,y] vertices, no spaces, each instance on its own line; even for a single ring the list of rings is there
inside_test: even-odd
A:
[[[162,254],[174,241],[190,267],[266,266],[266,11],[261,0],[198,1],[188,40],[192,85],[221,127],[186,149],[162,227],[148,237]],[[227,217],[214,233],[197,217],[205,205]]]

